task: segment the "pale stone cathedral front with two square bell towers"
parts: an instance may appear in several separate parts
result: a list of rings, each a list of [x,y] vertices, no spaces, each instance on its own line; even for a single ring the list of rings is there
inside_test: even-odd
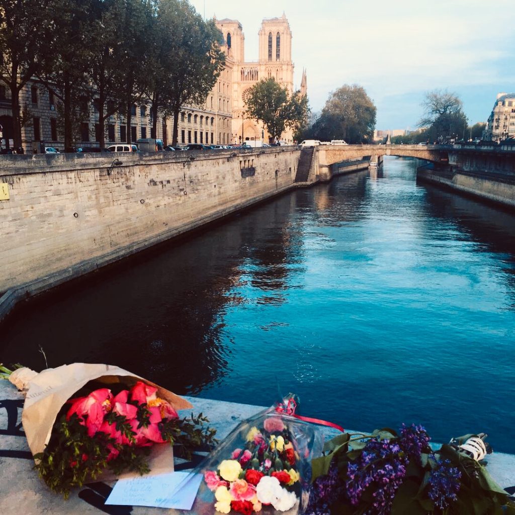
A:
[[[273,77],[288,92],[294,92],[294,63],[291,61],[291,30],[286,15],[262,21],[259,31],[259,59],[245,61],[245,36],[237,20],[215,20],[224,35],[224,50],[232,67],[232,140],[269,140],[269,134],[261,123],[245,117],[245,100],[250,88],[261,79]],[[301,93],[307,92],[307,78],[302,74]],[[293,133],[287,130],[282,135],[287,143],[293,143]]]

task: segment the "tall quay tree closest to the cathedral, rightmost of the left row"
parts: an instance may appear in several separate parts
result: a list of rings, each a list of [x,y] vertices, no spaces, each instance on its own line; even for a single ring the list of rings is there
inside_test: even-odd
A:
[[[174,116],[176,145],[181,107],[202,106],[224,69],[222,33],[213,20],[204,22],[186,0],[161,0],[157,18],[156,66],[148,97],[154,123],[159,111]]]

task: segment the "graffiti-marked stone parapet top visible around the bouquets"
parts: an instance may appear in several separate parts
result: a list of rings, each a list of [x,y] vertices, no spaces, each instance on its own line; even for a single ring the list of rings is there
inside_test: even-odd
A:
[[[241,421],[263,408],[248,404],[186,397],[194,413],[202,412],[217,429],[219,439],[225,438]],[[96,492],[84,487],[63,500],[39,479],[32,469],[33,461],[21,426],[23,396],[8,381],[0,380],[0,510],[2,515],[158,515],[176,510],[140,506],[108,506],[102,496],[108,485]],[[332,436],[332,435],[329,435]],[[515,456],[494,453],[488,457],[488,471],[503,488],[515,486]],[[93,504],[92,504],[93,503]],[[94,504],[97,503],[97,507]],[[192,513],[192,512],[182,512]]]

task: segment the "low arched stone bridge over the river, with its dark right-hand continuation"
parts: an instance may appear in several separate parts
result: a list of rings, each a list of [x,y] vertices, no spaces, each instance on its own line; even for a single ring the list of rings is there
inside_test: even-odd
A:
[[[310,177],[320,180],[331,178],[336,163],[366,157],[376,161],[381,156],[411,157],[477,172],[515,172],[515,145],[320,145],[313,150]]]

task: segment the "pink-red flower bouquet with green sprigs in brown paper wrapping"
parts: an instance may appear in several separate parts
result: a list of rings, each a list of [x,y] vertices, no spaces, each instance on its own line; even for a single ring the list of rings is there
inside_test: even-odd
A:
[[[108,469],[173,470],[170,444],[188,458],[215,442],[202,414],[179,417],[189,402],[125,370],[76,363],[32,374],[22,414],[27,441],[40,476],[65,497],[109,478]]]

